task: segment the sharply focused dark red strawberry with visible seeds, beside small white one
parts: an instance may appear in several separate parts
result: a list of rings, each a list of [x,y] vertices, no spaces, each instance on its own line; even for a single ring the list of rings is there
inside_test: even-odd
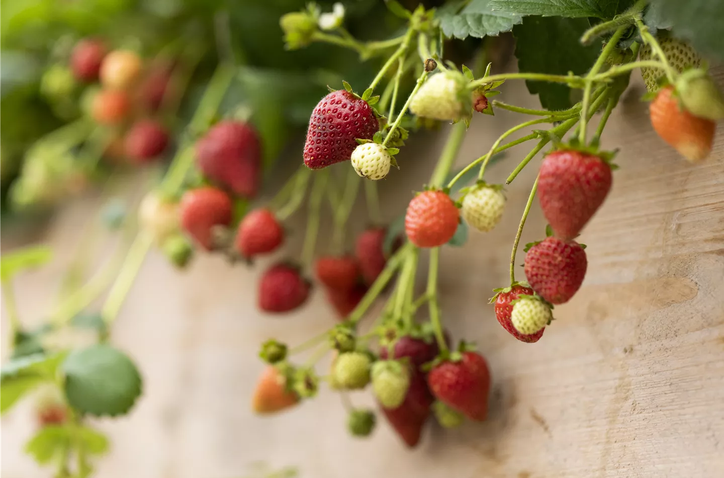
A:
[[[358,146],[355,139],[372,139],[379,122],[371,106],[345,90],[321,98],[309,118],[304,164],[320,169],[348,161]]]

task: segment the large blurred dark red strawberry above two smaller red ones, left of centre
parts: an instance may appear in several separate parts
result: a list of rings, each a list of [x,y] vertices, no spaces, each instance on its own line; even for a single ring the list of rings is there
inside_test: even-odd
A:
[[[237,196],[253,198],[261,182],[261,143],[245,122],[222,121],[196,143],[196,162],[204,176]]]

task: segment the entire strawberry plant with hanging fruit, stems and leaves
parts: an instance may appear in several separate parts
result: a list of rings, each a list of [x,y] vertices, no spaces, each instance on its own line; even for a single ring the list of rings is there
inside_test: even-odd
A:
[[[472,233],[494,229],[509,214],[505,185],[523,168],[539,167],[518,230],[510,231],[510,283],[494,291],[490,318],[515,339],[545,346],[544,330],[555,334],[552,304],[571,300],[586,274],[586,252],[576,237],[615,177],[614,154],[602,149],[601,134],[631,72],[640,69],[650,90],[653,129],[691,162],[710,154],[715,121],[724,117],[722,96],[696,53],[723,58],[718,22],[724,10],[705,0],[430,2],[434,6],[387,0],[350,4],[349,14],[342,4],[298,3],[294,12],[266,5],[258,27],[244,17],[244,7],[222,4],[204,16],[190,2],[175,12],[178,23],[151,20],[161,33],[161,25],[169,29],[159,37],[139,32],[127,42],[102,35],[107,25],[85,38],[68,33],[54,51],[43,52],[47,68],[38,91],[47,101],[38,114],[53,124],[16,143],[0,127],[0,151],[5,154],[8,143],[15,159],[22,156],[6,197],[13,207],[53,204],[123,167],[162,172],[138,206],[138,225],[112,204],[104,211],[111,230],[132,235],[130,246],[88,282],[71,271],[47,327],[21,324],[12,278],[51,254],[39,247],[3,256],[13,356],[0,370],[0,411],[38,387],[54,390],[27,449],[40,464],[54,463],[57,477],[90,475],[94,456],[108,443],[87,418],[127,414],[143,390],[141,372],[111,345],[111,332],[152,248],[180,269],[197,253],[252,267],[258,256],[285,248],[297,233],[285,225],[306,209],[300,254],[275,258],[261,274],[256,306],[291,313],[306,305],[316,285],[340,321],[298,345],[266,341],[259,355],[267,366],[251,408],[258,414],[295,408],[327,382],[345,397],[351,435],[367,437],[376,426],[374,412],[355,408],[345,390],[371,384],[387,422],[414,447],[433,414],[445,427],[486,419],[494,377],[483,353],[464,340],[452,346],[445,331],[440,248],[464,246],[468,227]],[[510,31],[519,71],[494,72],[485,46]],[[194,46],[200,32],[214,37],[213,55]],[[257,41],[269,32],[266,46]],[[4,35],[13,44],[20,33]],[[526,82],[542,109],[496,98],[502,94],[496,88],[515,80]],[[320,100],[324,83],[330,91]],[[523,120],[452,172],[471,121],[492,122],[496,109]],[[384,224],[376,182],[413,167],[397,155],[440,122],[453,125],[429,180],[406,206],[385,204],[403,216]],[[264,196],[264,177],[279,175],[275,160],[295,126],[306,127],[306,141],[292,155],[298,167],[273,197]],[[542,163],[531,166],[545,148]],[[504,151],[518,164],[505,184],[487,183],[487,168]],[[352,248],[346,235],[361,190],[369,227]],[[550,227],[526,248],[523,282],[516,280],[515,261],[536,196]],[[333,227],[329,247],[319,251],[323,214]],[[421,256],[428,267],[424,290],[416,283]],[[374,323],[363,325],[381,299]],[[95,340],[83,347],[44,345],[49,332],[66,327],[93,330]],[[300,362],[304,351],[311,356]],[[330,352],[331,369],[321,373],[316,364]]]

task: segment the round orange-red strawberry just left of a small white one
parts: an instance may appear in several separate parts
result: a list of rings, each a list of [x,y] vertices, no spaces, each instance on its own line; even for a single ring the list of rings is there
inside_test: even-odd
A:
[[[405,214],[405,232],[418,247],[438,247],[458,230],[460,211],[442,191],[426,190],[415,196]]]

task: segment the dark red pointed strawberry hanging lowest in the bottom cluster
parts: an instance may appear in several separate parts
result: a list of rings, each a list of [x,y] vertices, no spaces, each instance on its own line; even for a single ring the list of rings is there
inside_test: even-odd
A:
[[[413,372],[410,377],[410,387],[402,405],[392,409],[381,408],[387,422],[390,422],[397,435],[400,435],[403,441],[413,448],[420,441],[422,428],[430,416],[430,406],[433,401],[424,374]]]

